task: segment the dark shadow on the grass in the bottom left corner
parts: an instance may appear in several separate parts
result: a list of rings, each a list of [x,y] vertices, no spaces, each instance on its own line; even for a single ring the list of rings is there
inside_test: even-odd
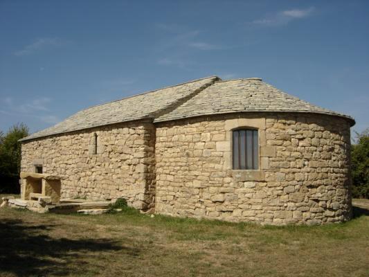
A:
[[[16,276],[64,276],[71,271],[91,269],[89,256],[100,251],[124,251],[138,256],[139,250],[105,239],[70,240],[51,238],[45,231],[65,228],[57,225],[27,225],[21,220],[0,222],[0,273]],[[72,265],[71,265],[72,264]]]

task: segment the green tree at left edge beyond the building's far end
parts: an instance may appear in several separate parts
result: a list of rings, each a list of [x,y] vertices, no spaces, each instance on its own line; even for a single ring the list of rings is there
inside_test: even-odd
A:
[[[6,134],[0,132],[0,193],[17,193],[21,166],[21,143],[28,136],[28,127],[23,123],[13,125]]]

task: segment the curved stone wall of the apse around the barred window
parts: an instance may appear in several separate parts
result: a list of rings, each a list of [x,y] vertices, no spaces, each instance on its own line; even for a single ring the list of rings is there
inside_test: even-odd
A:
[[[231,132],[259,134],[259,170],[232,170]],[[156,125],[156,213],[262,224],[352,213],[350,125],[336,116],[233,114]]]

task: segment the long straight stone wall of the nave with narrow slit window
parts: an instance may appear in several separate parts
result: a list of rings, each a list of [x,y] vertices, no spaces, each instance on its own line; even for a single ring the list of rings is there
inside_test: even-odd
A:
[[[147,209],[154,204],[154,144],[154,125],[148,122],[48,136],[22,143],[21,171],[42,165],[44,173],[62,177],[63,198],[125,197]]]

